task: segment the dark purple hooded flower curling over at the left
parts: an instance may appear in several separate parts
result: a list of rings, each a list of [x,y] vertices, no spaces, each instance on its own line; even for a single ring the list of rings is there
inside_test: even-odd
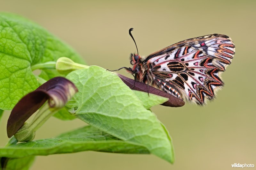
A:
[[[30,125],[36,128],[29,132],[35,132],[35,130],[39,128],[36,126],[36,123],[40,123],[40,126],[43,124],[42,122],[38,122],[40,116],[40,121],[46,121],[52,114],[64,107],[67,101],[70,100],[76,92],[77,88],[71,81],[63,77],[55,77],[38,87],[35,91],[28,93],[12,109],[7,122],[7,136],[10,138],[16,134],[19,129],[27,129]],[[45,103],[47,100],[48,102]],[[24,124],[40,107],[42,108],[39,110],[34,120],[29,124]],[[45,113],[47,115],[45,115]],[[43,114],[44,116],[42,117]],[[26,130],[23,136],[26,135],[25,132]],[[24,138],[17,140],[27,141],[27,139]],[[31,140],[31,138],[29,140]]]

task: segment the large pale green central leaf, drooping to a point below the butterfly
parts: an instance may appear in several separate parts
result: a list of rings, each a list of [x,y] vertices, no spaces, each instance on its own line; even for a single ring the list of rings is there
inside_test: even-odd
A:
[[[76,95],[66,105],[70,113],[102,131],[140,144],[150,153],[173,162],[169,134],[156,115],[143,106],[144,101],[141,102],[117,75],[90,66],[69,73],[67,78],[78,88]]]

